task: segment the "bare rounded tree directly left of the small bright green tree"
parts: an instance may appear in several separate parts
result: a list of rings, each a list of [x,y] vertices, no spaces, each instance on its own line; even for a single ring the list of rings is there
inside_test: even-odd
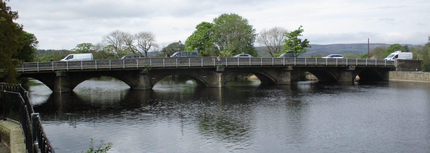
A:
[[[288,30],[283,27],[272,27],[270,30],[263,29],[258,34],[257,42],[261,46],[265,46],[264,51],[274,56],[274,54],[279,54],[285,44],[284,40]]]

